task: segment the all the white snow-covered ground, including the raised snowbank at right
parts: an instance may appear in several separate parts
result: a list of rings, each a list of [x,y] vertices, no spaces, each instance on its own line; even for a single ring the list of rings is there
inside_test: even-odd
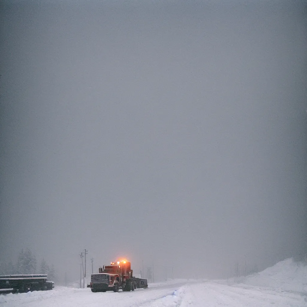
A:
[[[227,281],[174,280],[150,284],[134,292],[92,293],[90,289],[56,287],[0,296],[4,307],[202,307],[202,306],[307,306],[306,267],[291,259],[245,279]],[[305,275],[304,275],[305,274]],[[303,277],[305,276],[305,277]],[[305,283],[305,285],[304,285]]]

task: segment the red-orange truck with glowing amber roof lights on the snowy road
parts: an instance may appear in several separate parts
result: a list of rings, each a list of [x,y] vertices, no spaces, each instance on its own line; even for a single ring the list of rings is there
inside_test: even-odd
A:
[[[91,274],[91,283],[87,285],[92,292],[134,291],[137,288],[147,288],[147,279],[132,275],[131,262],[126,260],[111,262],[109,266],[99,268],[99,274]]]

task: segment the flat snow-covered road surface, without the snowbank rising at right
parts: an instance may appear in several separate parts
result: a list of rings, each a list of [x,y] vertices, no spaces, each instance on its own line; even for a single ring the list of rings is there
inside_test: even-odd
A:
[[[270,288],[228,286],[216,282],[177,282],[151,284],[149,289],[134,292],[92,293],[90,289],[56,287],[0,296],[4,307],[202,307],[202,306],[307,306],[302,293]]]

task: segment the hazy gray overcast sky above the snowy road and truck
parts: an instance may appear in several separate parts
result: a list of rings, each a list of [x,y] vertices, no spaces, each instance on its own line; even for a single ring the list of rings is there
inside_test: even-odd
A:
[[[297,254],[306,7],[2,1],[0,261],[217,277]]]

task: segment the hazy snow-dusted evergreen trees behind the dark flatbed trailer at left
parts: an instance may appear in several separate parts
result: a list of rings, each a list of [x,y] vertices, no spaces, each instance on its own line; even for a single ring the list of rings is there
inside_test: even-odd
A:
[[[29,248],[26,250],[21,250],[16,263],[13,263],[12,260],[9,262],[0,262],[0,274],[47,274],[48,280],[57,280],[54,265],[52,264],[49,266],[49,264],[43,258],[41,265],[38,267],[35,255],[32,254]]]

